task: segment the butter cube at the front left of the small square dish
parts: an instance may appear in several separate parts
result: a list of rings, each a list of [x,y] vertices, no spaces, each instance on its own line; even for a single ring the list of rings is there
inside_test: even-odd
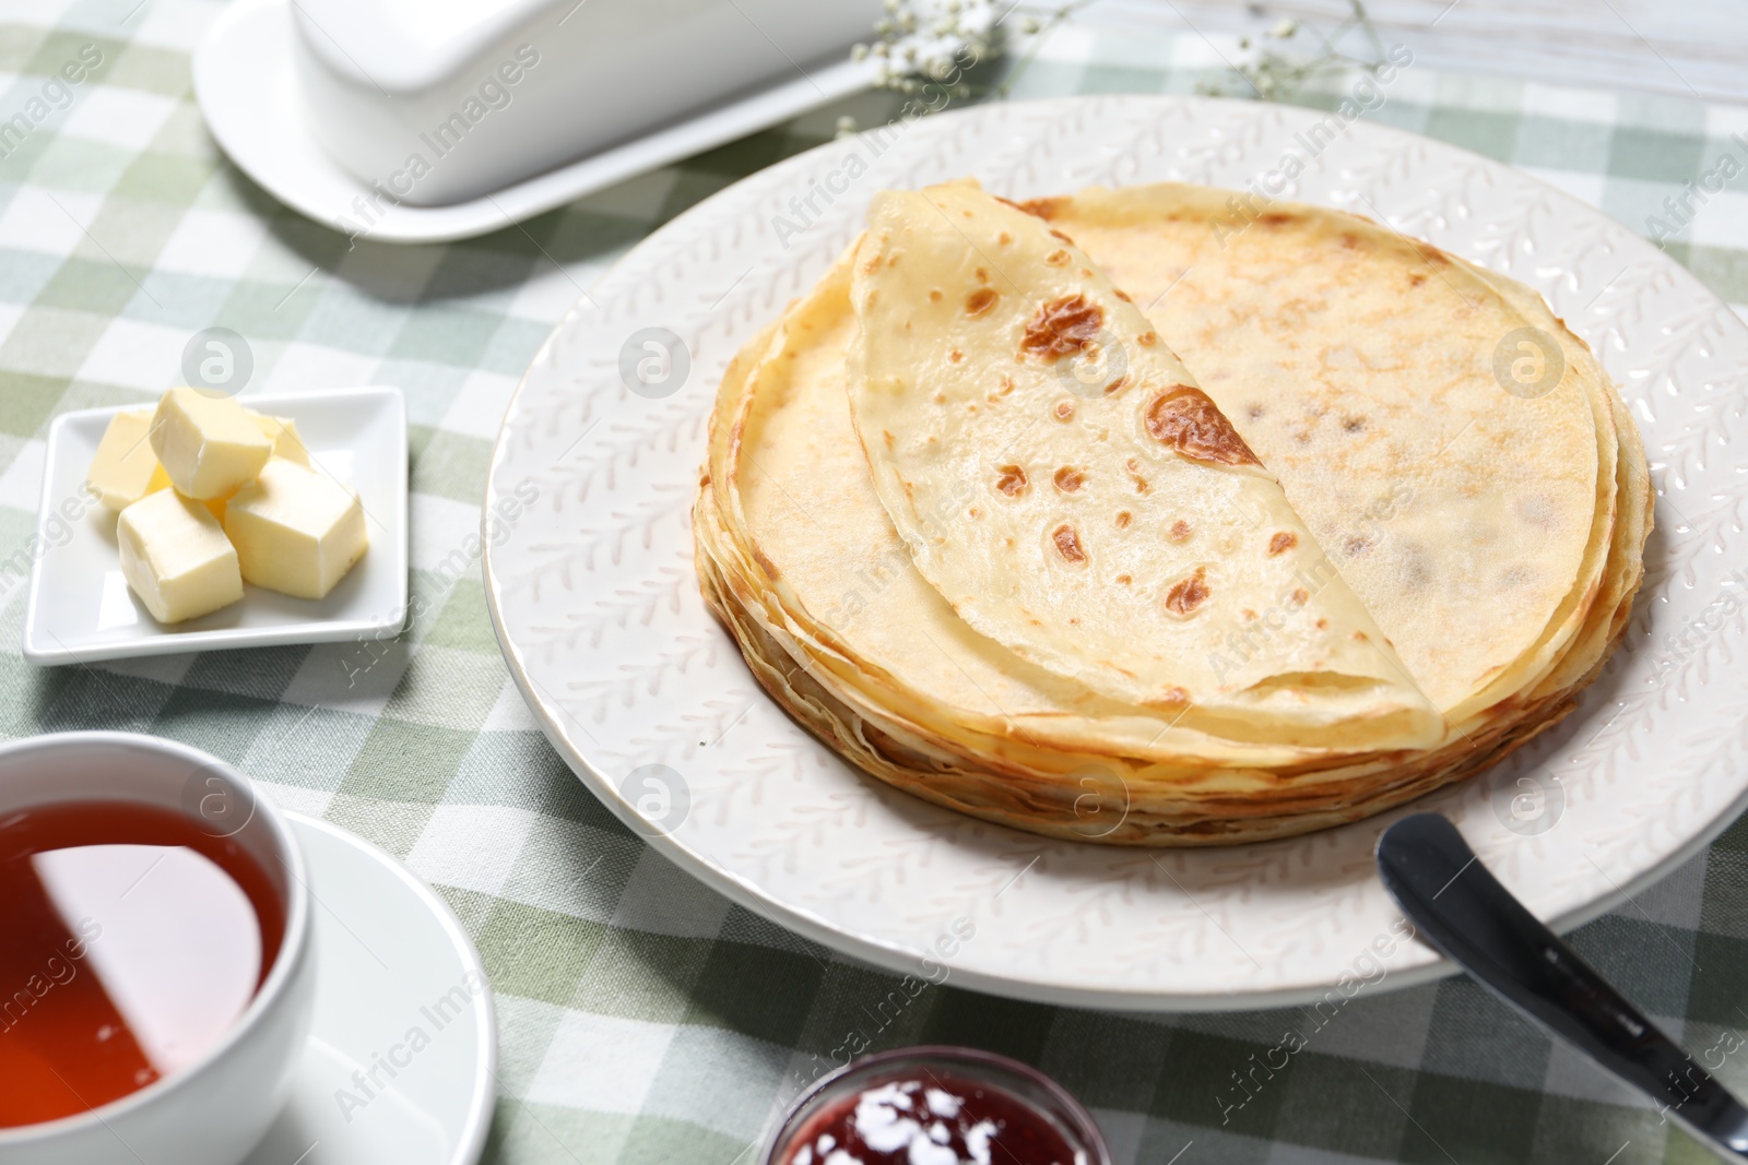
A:
[[[161,489],[115,522],[121,573],[161,624],[198,618],[243,597],[236,550],[199,501]]]

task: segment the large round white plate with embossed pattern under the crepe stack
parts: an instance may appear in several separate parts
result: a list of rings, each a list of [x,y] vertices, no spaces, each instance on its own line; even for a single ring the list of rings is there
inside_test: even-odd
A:
[[[734,901],[895,971],[946,957],[953,982],[981,990],[1217,1010],[1321,997],[1374,952],[1388,950],[1390,985],[1449,973],[1391,940],[1400,915],[1372,845],[1400,814],[1147,852],[925,805],[846,767],[762,695],[692,569],[720,372],[855,238],[876,190],[967,173],[1010,197],[1155,180],[1243,189],[1302,154],[1295,134],[1320,119],[1162,96],[979,107],[898,128],[879,152],[864,136],[788,159],[635,248],[528,369],[488,486],[488,505],[533,496],[486,554],[488,603],[510,674],[584,784]],[[790,199],[813,189],[832,197],[797,227]],[[1449,814],[1502,882],[1570,929],[1696,854],[1748,802],[1748,674],[1725,665],[1748,646],[1748,575],[1732,575],[1748,555],[1748,487],[1731,456],[1748,442],[1748,328],[1594,208],[1414,134],[1353,124],[1280,196],[1383,218],[1538,288],[1645,433],[1657,531],[1620,651],[1557,730],[1414,805]],[[671,391],[622,379],[647,360],[649,328],[683,344]],[[640,796],[650,774],[689,793],[666,830],[619,793],[645,765],[671,772],[636,774]],[[953,940],[954,924],[975,936]]]

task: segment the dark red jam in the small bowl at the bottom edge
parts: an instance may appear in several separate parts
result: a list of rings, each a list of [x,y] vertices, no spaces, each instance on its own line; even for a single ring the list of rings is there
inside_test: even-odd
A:
[[[1063,1132],[1024,1100],[923,1072],[871,1085],[815,1114],[785,1165],[1075,1165]]]

